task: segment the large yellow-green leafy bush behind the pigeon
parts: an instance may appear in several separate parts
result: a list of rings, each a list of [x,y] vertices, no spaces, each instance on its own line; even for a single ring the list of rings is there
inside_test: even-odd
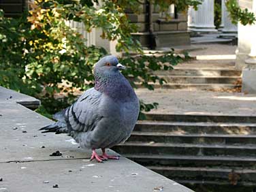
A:
[[[35,0],[31,10],[18,19],[5,18],[0,11],[0,85],[41,99],[43,106],[38,111],[43,114],[65,108],[76,99],[76,93],[93,86],[93,65],[107,52],[85,46],[86,39],[66,25],[68,20],[84,22],[87,31],[99,27],[102,38],[118,40],[116,50],[126,53],[120,60],[127,65],[124,74],[133,86],[134,80],[148,89],[153,89],[150,81],[163,84],[152,71],[172,69],[181,58],[173,50],[145,55],[139,42],[131,38],[136,27],[125,9],[140,12],[140,1],[104,2],[95,8],[97,1]],[[197,5],[193,0],[177,2],[180,7]],[[163,1],[159,4],[165,6]],[[131,50],[140,56],[132,56]],[[142,110],[151,107],[142,105]]]

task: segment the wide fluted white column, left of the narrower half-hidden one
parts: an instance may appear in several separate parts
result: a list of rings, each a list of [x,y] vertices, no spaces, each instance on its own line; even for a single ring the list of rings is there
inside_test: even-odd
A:
[[[194,14],[194,18],[193,18]],[[198,6],[198,10],[192,9],[191,19],[193,25],[189,27],[191,31],[213,32],[217,31],[214,26],[214,0],[203,1]]]

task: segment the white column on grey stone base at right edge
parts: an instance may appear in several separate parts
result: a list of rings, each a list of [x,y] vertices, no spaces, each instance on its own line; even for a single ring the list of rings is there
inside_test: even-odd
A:
[[[256,0],[253,0],[253,13],[256,14]],[[242,69],[242,92],[256,93],[256,25],[251,25],[251,51]]]

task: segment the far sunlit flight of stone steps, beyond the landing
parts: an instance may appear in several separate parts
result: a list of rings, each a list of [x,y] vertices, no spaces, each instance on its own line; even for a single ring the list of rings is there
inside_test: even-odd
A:
[[[236,70],[235,61],[231,59],[195,60],[174,66],[174,70],[156,71],[155,74],[167,81],[163,85],[155,84],[155,88],[165,89],[223,91],[239,89],[241,80],[241,71]]]

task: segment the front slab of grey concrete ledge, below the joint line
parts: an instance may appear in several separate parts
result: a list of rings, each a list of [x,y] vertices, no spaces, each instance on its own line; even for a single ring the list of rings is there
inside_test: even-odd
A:
[[[178,183],[125,158],[120,161],[95,163],[73,159],[69,161],[34,161],[29,163],[0,163],[7,191],[190,191]],[[71,172],[70,172],[71,171]],[[49,183],[44,183],[48,181]]]

